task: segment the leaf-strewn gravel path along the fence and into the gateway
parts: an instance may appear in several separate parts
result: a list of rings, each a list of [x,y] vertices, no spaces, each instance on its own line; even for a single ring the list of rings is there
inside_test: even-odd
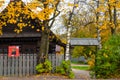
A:
[[[72,69],[75,73],[75,79],[68,79],[60,75],[33,75],[26,77],[0,77],[0,80],[89,80],[89,71]]]

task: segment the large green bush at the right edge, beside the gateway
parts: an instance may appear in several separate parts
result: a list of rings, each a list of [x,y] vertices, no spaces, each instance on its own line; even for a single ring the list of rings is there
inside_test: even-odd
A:
[[[93,71],[97,78],[120,77],[120,35],[112,36],[97,53]]]

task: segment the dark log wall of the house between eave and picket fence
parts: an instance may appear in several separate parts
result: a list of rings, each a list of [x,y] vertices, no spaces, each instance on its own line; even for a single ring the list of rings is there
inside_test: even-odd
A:
[[[0,53],[7,54],[8,46],[19,46],[20,53],[37,53],[39,38],[2,38],[0,39]]]

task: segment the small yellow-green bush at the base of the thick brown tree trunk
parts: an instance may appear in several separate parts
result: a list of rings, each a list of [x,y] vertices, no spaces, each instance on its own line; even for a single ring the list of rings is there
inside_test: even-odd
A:
[[[36,66],[36,70],[38,73],[51,72],[51,70],[52,70],[51,62],[46,59],[44,63],[40,63]]]

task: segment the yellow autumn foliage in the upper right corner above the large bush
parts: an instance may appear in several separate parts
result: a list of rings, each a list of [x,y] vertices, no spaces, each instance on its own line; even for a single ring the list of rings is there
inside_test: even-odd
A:
[[[100,29],[102,42],[105,42],[108,37],[113,34],[113,30],[118,30],[119,25],[116,24],[118,24],[119,21],[119,8],[119,0],[99,0],[99,7],[95,10],[95,13],[99,13],[99,20],[97,26]]]

